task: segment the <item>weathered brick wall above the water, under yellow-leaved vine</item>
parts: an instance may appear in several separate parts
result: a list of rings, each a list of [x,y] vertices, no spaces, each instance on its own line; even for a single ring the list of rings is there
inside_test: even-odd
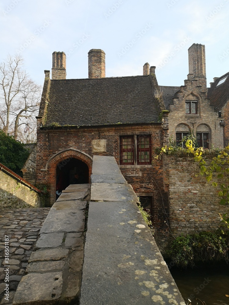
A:
[[[199,172],[198,163],[192,157],[165,156],[164,169],[171,233],[177,236],[216,231],[221,225],[219,213],[225,213],[228,207],[219,204],[217,188],[205,177],[195,177]]]

